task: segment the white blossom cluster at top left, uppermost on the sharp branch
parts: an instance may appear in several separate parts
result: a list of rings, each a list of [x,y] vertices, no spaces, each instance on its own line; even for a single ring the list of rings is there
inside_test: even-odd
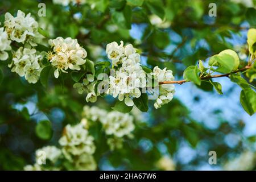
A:
[[[17,16],[10,13],[5,14],[5,31],[9,38],[18,43],[28,43],[30,46],[37,46],[42,39],[38,32],[38,22],[31,17],[31,14],[24,14],[18,10]]]

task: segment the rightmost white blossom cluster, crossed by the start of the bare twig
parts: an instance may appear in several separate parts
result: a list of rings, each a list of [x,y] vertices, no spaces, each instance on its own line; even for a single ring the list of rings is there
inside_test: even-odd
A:
[[[157,80],[158,82],[174,80],[172,71],[166,70],[166,68],[160,69],[158,67],[155,67],[151,75],[154,76],[155,80]],[[159,95],[154,104],[155,109],[158,109],[162,105],[170,102],[174,97],[174,93],[175,93],[174,84],[159,85]]]

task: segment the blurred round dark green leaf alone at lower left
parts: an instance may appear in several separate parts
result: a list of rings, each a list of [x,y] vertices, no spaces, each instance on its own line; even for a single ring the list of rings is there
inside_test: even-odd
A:
[[[50,121],[40,121],[35,128],[36,135],[43,140],[51,139],[52,137],[52,124]]]

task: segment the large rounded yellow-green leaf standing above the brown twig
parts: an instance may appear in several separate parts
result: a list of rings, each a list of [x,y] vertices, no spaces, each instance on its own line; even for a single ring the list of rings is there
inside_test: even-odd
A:
[[[236,52],[231,49],[221,51],[218,55],[210,57],[209,65],[217,66],[217,72],[230,73],[236,71],[240,64],[239,57]]]

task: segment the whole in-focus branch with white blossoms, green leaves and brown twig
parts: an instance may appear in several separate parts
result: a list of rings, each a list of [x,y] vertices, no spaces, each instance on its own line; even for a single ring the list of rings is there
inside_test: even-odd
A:
[[[94,64],[93,61],[86,59],[87,52],[79,45],[77,39],[61,37],[49,39],[48,45],[40,45],[45,51],[37,51],[40,40],[46,36],[47,32],[39,28],[38,22],[30,14],[25,15],[19,10],[14,17],[6,13],[4,28],[1,28],[0,59],[6,60],[9,56],[6,51],[11,50],[13,59],[8,67],[32,84],[40,79],[42,85],[47,86],[48,75],[52,69],[55,69],[53,72],[55,78],[60,74],[71,72],[71,77],[76,82],[73,87],[77,88],[80,94],[84,92],[87,94],[87,102],[96,102],[98,96],[109,94],[114,98],[118,97],[112,108],[125,113],[129,112],[133,105],[142,111],[147,111],[147,93],[152,92],[158,94],[154,103],[154,107],[158,109],[174,97],[173,84],[183,84],[188,81],[197,85],[202,81],[208,81],[218,93],[222,94],[221,84],[212,81],[212,78],[226,76],[241,86],[241,104],[247,113],[251,115],[256,111],[255,92],[240,74],[246,72],[250,81],[255,78],[255,29],[250,29],[247,34],[250,60],[245,67],[240,68],[240,59],[235,51],[226,49],[218,55],[209,57],[208,67],[205,67],[201,60],[199,66],[189,66],[184,71],[184,80],[180,81],[174,81],[171,70],[158,67],[151,70],[141,65],[141,55],[131,44],[125,46],[122,41],[119,45],[117,42],[109,43],[106,45],[106,54],[110,62],[102,61]],[[13,44],[18,44],[18,49]],[[223,75],[214,75],[215,72]],[[102,81],[101,78],[104,80]],[[151,88],[150,91],[146,90],[147,88]]]

